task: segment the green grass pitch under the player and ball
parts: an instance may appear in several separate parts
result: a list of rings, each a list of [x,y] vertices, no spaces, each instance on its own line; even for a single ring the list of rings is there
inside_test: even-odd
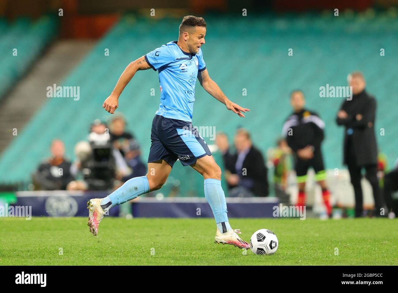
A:
[[[0,218],[0,265],[398,265],[397,220],[235,218],[230,223],[247,242],[258,229],[272,230],[277,252],[244,255],[234,246],[215,244],[210,218],[105,217],[98,236],[90,234],[87,218]]]

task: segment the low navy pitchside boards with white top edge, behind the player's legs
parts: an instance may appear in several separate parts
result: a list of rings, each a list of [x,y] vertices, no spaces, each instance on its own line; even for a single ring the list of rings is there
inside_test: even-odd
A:
[[[103,198],[108,191],[21,191],[12,206],[31,206],[31,216],[88,216],[87,201]],[[228,216],[234,218],[272,217],[275,197],[226,198]],[[139,197],[132,202],[133,217],[213,218],[213,212],[203,197]],[[109,210],[109,216],[119,216],[119,206]]]

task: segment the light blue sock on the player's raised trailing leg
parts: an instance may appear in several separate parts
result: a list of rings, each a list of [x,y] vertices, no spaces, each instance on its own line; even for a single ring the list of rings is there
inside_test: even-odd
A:
[[[113,191],[101,201],[101,206],[111,203],[111,206],[121,205],[126,201],[149,192],[149,183],[146,176],[127,180],[121,187]]]

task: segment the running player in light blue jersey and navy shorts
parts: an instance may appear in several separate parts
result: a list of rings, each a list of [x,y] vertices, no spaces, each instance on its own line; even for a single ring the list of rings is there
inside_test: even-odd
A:
[[[179,26],[178,41],[171,41],[131,62],[123,71],[111,95],[102,107],[111,114],[118,107],[118,99],[131,78],[139,70],[152,68],[159,73],[160,105],[152,121],[151,147],[146,176],[135,177],[103,199],[88,201],[88,226],[93,235],[109,208],[139,195],[158,190],[166,182],[173,164],[179,159],[183,166],[191,166],[204,178],[205,197],[211,206],[217,232],[215,243],[249,248],[228,222],[221,169],[213,159],[205,140],[192,127],[196,79],[214,98],[225,104],[239,117],[249,109],[228,100],[218,85],[209,77],[201,46],[205,43],[206,22],[203,18],[185,16]],[[154,175],[152,175],[154,174]]]

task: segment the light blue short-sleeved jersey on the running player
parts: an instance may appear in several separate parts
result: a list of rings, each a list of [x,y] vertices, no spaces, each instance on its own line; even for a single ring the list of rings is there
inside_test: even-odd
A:
[[[195,55],[187,53],[172,41],[146,54],[145,60],[159,73],[160,105],[156,114],[191,122],[197,75],[206,69],[202,50],[199,48]]]

